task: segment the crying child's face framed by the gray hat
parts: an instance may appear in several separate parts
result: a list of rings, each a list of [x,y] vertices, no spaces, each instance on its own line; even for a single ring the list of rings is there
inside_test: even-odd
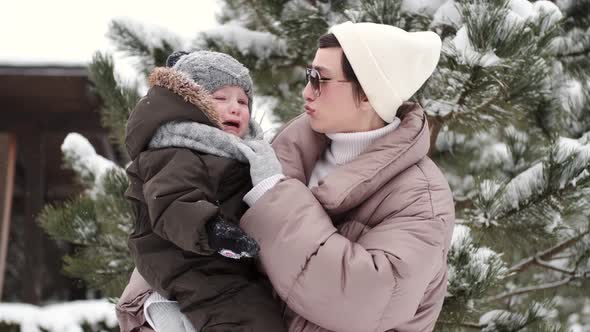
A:
[[[237,86],[224,86],[212,94],[213,106],[221,117],[223,131],[244,138],[248,132],[248,96]]]

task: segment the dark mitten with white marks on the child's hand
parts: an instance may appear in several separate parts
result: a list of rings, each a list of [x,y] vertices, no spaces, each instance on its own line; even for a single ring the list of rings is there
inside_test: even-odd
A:
[[[223,220],[220,216],[207,222],[209,246],[220,255],[240,259],[258,254],[258,244],[244,233],[238,225]]]

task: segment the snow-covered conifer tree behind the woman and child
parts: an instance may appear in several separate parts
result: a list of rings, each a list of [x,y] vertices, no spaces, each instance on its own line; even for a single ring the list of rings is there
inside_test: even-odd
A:
[[[352,20],[438,33],[439,66],[412,98],[428,116],[429,155],[456,202],[436,329],[558,331],[590,324],[581,314],[590,308],[590,1],[556,3],[225,0],[221,26],[196,36],[190,50],[243,62],[257,96],[271,98],[285,122],[301,113],[304,68],[329,26]],[[142,75],[178,45],[142,39],[123,21],[110,31]],[[138,94],[112,70],[104,54],[90,66],[105,125],[121,145]],[[98,182],[90,176],[89,193],[41,217],[55,238],[80,244],[66,270],[112,296],[132,268],[122,166]],[[96,186],[103,190],[92,196]]]

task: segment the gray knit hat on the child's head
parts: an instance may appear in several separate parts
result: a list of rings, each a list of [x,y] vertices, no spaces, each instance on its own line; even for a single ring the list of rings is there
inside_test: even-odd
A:
[[[248,109],[252,113],[250,72],[233,57],[210,51],[174,52],[168,56],[166,66],[187,74],[209,93],[228,85],[241,87],[248,96]]]

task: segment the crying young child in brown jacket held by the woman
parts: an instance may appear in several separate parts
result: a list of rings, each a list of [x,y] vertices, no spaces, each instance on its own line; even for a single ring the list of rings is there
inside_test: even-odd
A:
[[[237,226],[252,183],[236,144],[261,135],[250,120],[248,70],[226,54],[176,52],[151,73],[150,86],[127,122],[126,196],[136,217],[129,248],[141,275],[132,282],[143,277],[157,292],[150,297],[178,301],[199,332],[286,331],[248,258],[258,246]],[[121,315],[125,297],[117,306],[122,331],[141,330]],[[162,301],[153,307],[160,317]],[[155,328],[192,329],[178,318]]]

